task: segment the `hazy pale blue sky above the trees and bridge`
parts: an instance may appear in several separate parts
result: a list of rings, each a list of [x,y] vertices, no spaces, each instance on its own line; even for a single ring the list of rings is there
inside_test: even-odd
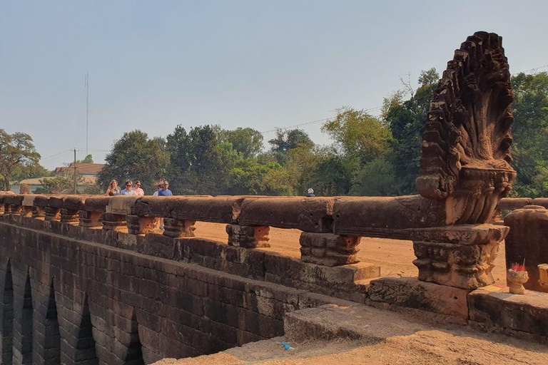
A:
[[[128,130],[265,131],[381,106],[479,30],[503,37],[512,73],[548,64],[548,1],[440,3],[0,0],[0,128],[54,168],[85,155],[86,73],[103,162]],[[320,126],[303,129],[330,143]]]

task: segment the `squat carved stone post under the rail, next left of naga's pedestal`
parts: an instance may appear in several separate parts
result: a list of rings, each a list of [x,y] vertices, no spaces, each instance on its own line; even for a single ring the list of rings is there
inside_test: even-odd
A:
[[[325,266],[340,266],[360,262],[357,259],[361,237],[340,236],[332,233],[300,234],[300,259]]]

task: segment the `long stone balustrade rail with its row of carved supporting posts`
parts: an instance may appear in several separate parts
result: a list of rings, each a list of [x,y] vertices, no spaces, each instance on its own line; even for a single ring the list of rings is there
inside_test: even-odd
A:
[[[152,234],[157,242],[162,236],[166,240],[194,237],[196,222],[223,223],[228,246],[243,248],[268,247],[270,227],[298,229],[302,231],[302,261],[326,267],[357,263],[361,237],[412,240],[417,256],[413,263],[420,279],[465,289],[494,282],[492,262],[507,229],[495,225],[432,227],[440,217],[433,217],[432,222],[429,215],[425,215],[427,220],[415,219],[405,199],[1,195],[0,214],[40,218],[46,226],[50,221],[78,222],[80,227],[102,227],[113,235]],[[392,206],[393,215],[385,216],[383,212]],[[418,209],[426,208],[420,205]],[[163,230],[158,229],[159,220],[163,220]],[[156,242],[149,245],[161,247]]]

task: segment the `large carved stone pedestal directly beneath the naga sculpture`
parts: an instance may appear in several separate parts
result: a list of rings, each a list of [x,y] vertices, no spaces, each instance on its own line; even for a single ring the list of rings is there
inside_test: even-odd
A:
[[[493,262],[508,230],[489,224],[412,230],[419,279],[463,289],[493,284]]]

